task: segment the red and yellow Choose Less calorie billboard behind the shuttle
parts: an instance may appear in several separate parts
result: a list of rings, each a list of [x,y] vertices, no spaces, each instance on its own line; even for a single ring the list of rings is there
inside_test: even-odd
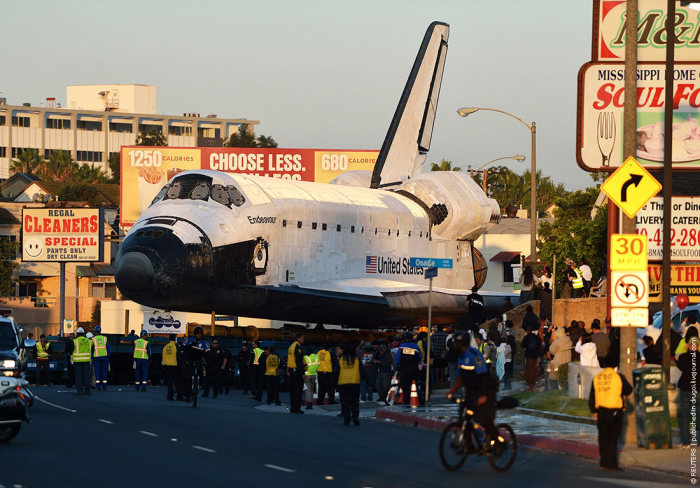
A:
[[[211,169],[328,183],[345,171],[373,170],[378,155],[335,149],[122,146],[120,224],[133,225],[181,171]]]

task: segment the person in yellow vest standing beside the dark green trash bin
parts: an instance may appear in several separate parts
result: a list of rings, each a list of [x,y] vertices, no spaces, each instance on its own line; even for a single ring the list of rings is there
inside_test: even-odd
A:
[[[624,396],[632,393],[632,385],[603,359],[605,369],[593,378],[588,406],[595,412],[598,424],[598,450],[600,469],[622,471],[617,464],[617,442],[622,433],[622,417],[625,412]]]

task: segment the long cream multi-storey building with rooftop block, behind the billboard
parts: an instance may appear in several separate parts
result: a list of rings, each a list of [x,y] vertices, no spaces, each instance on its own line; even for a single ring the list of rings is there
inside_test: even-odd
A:
[[[109,156],[121,146],[133,146],[142,131],[165,134],[174,147],[221,146],[240,126],[254,133],[260,123],[215,114],[159,115],[152,85],[74,85],[67,87],[66,100],[68,108],[54,98],[43,107],[7,105],[0,98],[0,179],[10,176],[12,159],[24,149],[35,149],[44,158],[67,151],[79,163],[108,172]]]

